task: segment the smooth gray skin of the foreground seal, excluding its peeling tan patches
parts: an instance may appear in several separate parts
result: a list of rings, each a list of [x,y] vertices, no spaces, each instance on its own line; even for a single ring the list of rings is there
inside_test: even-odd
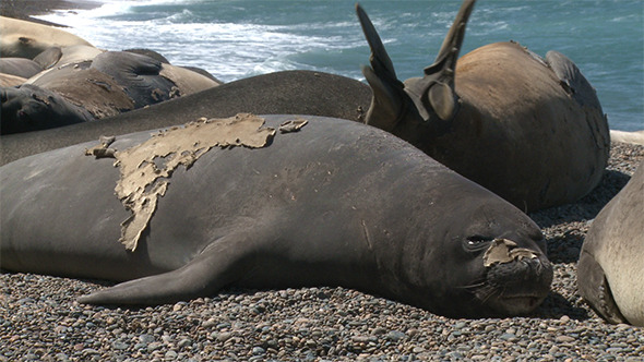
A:
[[[114,159],[91,142],[0,169],[2,268],[131,280],[81,298],[158,304],[230,286],[344,286],[449,316],[524,314],[552,268],[518,209],[391,134],[299,116],[296,133],[263,148],[215,147],[170,185],[135,252],[118,242],[128,218]],[[269,116],[277,128],[295,116]],[[126,149],[151,131],[117,136]],[[484,266],[496,238],[540,256]]]

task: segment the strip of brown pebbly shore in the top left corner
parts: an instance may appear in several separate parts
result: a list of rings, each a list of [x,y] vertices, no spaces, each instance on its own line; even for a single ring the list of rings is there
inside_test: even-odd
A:
[[[0,15],[24,20],[37,24],[69,27],[34,16],[45,15],[55,11],[91,10],[99,8],[102,3],[95,0],[2,0],[0,1]]]

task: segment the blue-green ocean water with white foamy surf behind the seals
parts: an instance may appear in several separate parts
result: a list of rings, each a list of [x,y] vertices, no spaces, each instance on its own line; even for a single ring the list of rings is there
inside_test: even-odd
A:
[[[369,48],[347,0],[105,0],[39,16],[109,50],[154,49],[222,81],[307,69],[363,80]],[[460,0],[361,2],[401,80],[420,76]],[[479,0],[461,55],[516,40],[571,58],[597,89],[611,129],[644,129],[644,1]]]

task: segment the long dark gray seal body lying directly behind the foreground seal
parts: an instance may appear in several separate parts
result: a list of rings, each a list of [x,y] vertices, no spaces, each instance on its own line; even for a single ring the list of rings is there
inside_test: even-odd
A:
[[[286,71],[258,75],[198,94],[102,119],[47,131],[0,137],[1,165],[21,157],[115,135],[183,124],[200,117],[255,114],[313,114],[361,122],[371,101],[365,83],[344,76]]]

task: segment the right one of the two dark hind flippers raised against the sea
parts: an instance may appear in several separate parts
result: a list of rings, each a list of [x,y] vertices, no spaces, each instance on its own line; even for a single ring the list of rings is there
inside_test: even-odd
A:
[[[406,84],[405,92],[426,121],[432,118],[432,113],[442,121],[450,121],[457,111],[458,97],[454,90],[454,72],[465,37],[465,26],[475,2],[476,0],[463,2],[436,61],[425,69],[425,76]]]

